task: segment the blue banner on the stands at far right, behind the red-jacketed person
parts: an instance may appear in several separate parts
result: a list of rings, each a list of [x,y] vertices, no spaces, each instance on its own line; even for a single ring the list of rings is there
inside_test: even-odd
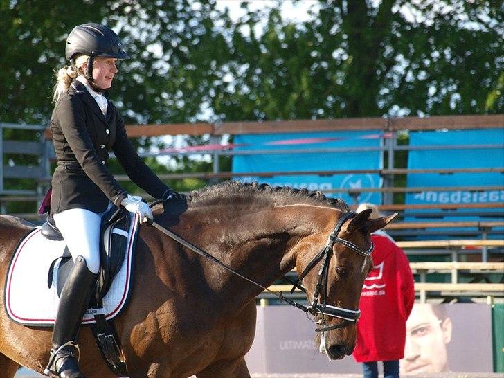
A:
[[[500,148],[485,145],[500,144]],[[446,132],[411,132],[411,146],[448,146],[442,150],[410,150],[408,168],[502,168],[504,166],[504,129],[462,130]],[[482,145],[481,148],[450,148],[449,146]],[[422,173],[408,174],[408,188],[457,187],[465,190],[431,190],[406,195],[406,204],[476,204],[504,201],[504,174],[483,173]],[[471,186],[501,186],[498,190],[474,191]],[[440,210],[441,211],[441,210]],[[479,211],[479,210],[478,210]],[[485,212],[485,209],[481,209]],[[465,220],[462,217],[453,220]]]

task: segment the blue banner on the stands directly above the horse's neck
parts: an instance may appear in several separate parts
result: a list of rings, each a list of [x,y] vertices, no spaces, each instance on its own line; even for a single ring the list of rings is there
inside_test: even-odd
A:
[[[256,172],[296,172],[324,170],[379,170],[382,168],[379,150],[356,152],[327,152],[331,148],[380,147],[380,132],[317,132],[295,134],[247,134],[236,135],[235,151],[266,151],[260,154],[233,156],[233,172],[250,175],[238,178],[240,181],[258,181],[273,186],[291,186],[309,190],[334,190],[337,188],[381,188],[379,174],[334,174],[319,175],[278,175],[273,177],[253,176]],[[241,146],[241,147],[240,147]],[[294,150],[313,150],[295,152]],[[323,150],[323,151],[317,151]],[[268,151],[280,151],[271,153]],[[381,204],[381,194],[361,192],[355,198],[346,193],[327,193],[330,197],[341,197],[348,204],[372,202]]]

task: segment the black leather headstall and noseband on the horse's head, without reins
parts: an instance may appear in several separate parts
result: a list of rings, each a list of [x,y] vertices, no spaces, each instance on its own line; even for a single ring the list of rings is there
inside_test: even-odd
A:
[[[318,280],[315,286],[314,290],[314,295],[313,295],[313,302],[311,307],[308,307],[308,310],[311,314],[313,315],[327,315],[327,316],[332,316],[334,318],[340,318],[343,319],[342,323],[339,323],[337,325],[331,325],[328,327],[318,327],[316,329],[316,332],[325,332],[329,330],[334,330],[336,328],[342,328],[346,327],[347,325],[352,324],[352,322],[355,322],[359,319],[361,316],[361,311],[359,309],[346,309],[344,307],[336,307],[332,305],[327,305],[326,300],[327,300],[327,280],[329,278],[329,264],[330,264],[330,256],[332,253],[332,246],[334,246],[334,243],[339,243],[343,244],[343,246],[347,247],[348,249],[351,249],[352,251],[359,253],[359,255],[363,255],[364,257],[369,256],[372,253],[372,250],[374,248],[372,242],[371,246],[367,251],[364,251],[363,249],[360,249],[358,246],[353,244],[352,242],[349,242],[348,240],[341,239],[341,237],[338,237],[341,227],[343,224],[348,220],[352,219],[357,216],[357,213],[354,213],[352,211],[346,213],[341,217],[336,223],[336,226],[334,226],[334,230],[332,231],[331,235],[329,235],[329,240],[327,240],[327,244],[317,253],[317,255],[312,259],[312,261],[309,262],[307,267],[303,270],[303,272],[300,274],[298,278],[298,282],[303,280],[307,273],[311,271],[315,264],[323,259],[323,262],[321,264],[320,269],[318,269]],[[303,287],[300,287],[298,283],[294,285],[294,287],[299,287],[303,291],[306,292],[306,290]],[[293,290],[294,290],[293,287]],[[320,303],[318,302],[318,299],[321,299]],[[325,324],[325,320],[322,318],[319,323]]]

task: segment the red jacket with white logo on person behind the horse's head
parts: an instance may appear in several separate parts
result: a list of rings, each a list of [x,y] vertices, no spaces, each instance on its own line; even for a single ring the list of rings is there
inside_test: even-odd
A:
[[[357,362],[404,357],[406,319],[415,302],[408,258],[386,234],[373,234],[373,269],[364,281],[357,323]]]

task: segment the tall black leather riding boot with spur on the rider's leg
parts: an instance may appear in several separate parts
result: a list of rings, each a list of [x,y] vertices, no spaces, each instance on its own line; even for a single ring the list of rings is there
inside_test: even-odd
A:
[[[77,334],[95,282],[96,274],[89,271],[84,258],[78,256],[60,296],[53,331],[53,348],[45,374],[60,378],[85,378],[77,364]]]

